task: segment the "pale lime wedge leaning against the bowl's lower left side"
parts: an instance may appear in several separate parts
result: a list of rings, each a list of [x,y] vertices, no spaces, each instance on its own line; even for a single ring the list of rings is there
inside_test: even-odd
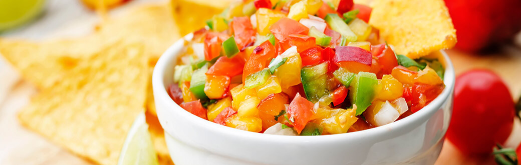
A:
[[[118,160],[118,165],[121,164],[159,164],[152,139],[148,134],[144,113],[134,120],[125,139]]]

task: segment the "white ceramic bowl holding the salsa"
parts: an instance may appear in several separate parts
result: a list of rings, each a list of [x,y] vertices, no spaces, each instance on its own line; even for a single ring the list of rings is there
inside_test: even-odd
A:
[[[191,39],[192,35],[185,36]],[[152,78],[159,122],[176,164],[433,164],[452,113],[454,69],[445,58],[443,92],[418,112],[377,128],[322,136],[247,132],[203,120],[166,91],[183,41],[156,64]]]

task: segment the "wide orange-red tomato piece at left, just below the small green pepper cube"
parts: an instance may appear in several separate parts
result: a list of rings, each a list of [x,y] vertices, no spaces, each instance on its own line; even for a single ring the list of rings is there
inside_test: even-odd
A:
[[[239,56],[228,58],[226,56],[219,57],[215,64],[206,71],[206,74],[227,75],[234,77],[242,73],[244,68],[244,59]]]

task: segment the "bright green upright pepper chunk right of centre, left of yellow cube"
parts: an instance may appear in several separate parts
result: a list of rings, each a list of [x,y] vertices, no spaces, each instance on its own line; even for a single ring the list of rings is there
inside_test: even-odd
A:
[[[351,81],[349,98],[356,105],[356,116],[362,114],[375,98],[375,88],[378,85],[375,73],[358,72]]]

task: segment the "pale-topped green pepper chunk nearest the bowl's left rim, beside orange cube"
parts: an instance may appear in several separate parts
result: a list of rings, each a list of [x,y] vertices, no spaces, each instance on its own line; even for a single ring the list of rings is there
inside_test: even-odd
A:
[[[206,71],[208,71],[208,65],[205,65],[192,73],[192,80],[190,81],[190,91],[198,99],[207,99],[208,97],[204,94],[204,84],[206,83]]]

